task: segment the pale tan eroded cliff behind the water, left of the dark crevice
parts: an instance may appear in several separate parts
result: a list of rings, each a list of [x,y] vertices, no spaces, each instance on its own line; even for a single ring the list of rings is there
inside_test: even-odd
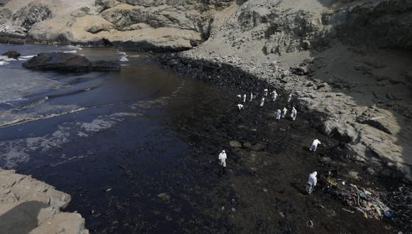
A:
[[[48,43],[123,45],[135,50],[188,50],[210,35],[215,12],[232,1],[31,1],[0,10],[0,31]],[[16,5],[16,4],[14,4]],[[16,8],[16,7],[14,7]]]

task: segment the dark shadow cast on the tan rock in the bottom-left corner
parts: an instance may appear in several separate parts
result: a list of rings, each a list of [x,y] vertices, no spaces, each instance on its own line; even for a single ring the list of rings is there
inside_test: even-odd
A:
[[[49,207],[40,201],[26,201],[0,216],[0,233],[26,234],[38,226],[38,213]],[[3,209],[0,206],[0,213]]]

